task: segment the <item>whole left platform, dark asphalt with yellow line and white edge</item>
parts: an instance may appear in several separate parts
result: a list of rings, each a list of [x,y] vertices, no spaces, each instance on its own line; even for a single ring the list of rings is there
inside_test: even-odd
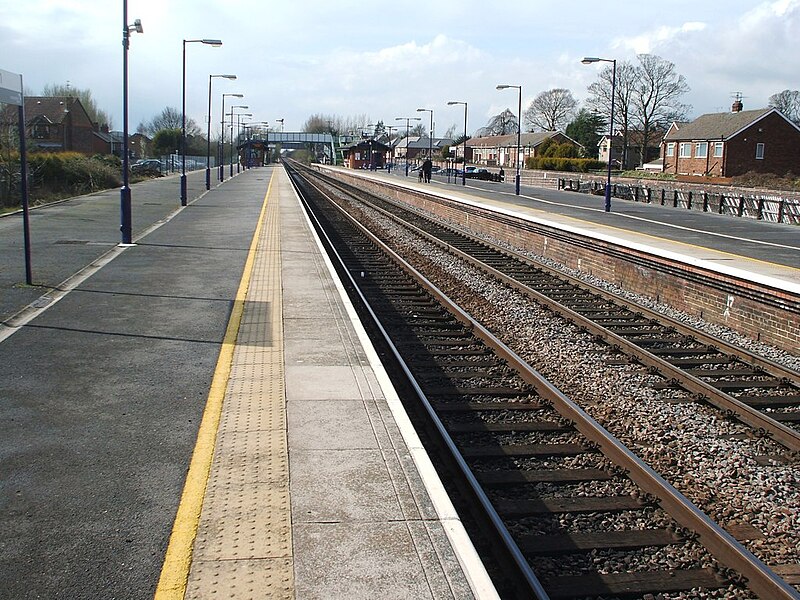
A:
[[[202,176],[132,247],[114,191],[34,211],[89,265],[0,326],[0,598],[496,598],[285,171]]]

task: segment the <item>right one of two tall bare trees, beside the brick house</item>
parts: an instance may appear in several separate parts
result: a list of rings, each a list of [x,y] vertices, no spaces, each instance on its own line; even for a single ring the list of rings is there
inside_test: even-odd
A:
[[[644,164],[654,132],[665,130],[672,121],[685,119],[691,106],[680,101],[689,91],[689,85],[673,63],[653,54],[639,54],[637,58],[639,66],[633,107],[642,135],[639,164]]]

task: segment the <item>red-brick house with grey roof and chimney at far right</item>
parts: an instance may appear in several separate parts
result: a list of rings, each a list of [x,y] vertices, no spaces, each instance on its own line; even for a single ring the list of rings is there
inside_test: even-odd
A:
[[[705,114],[673,123],[661,144],[663,172],[735,177],[800,173],[800,128],[775,108]]]

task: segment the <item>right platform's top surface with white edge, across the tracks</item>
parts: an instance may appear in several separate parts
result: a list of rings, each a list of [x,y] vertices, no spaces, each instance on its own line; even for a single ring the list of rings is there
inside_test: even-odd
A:
[[[405,177],[402,170],[345,172],[800,293],[800,244],[797,228],[791,225],[616,198],[612,210],[605,212],[602,196],[526,186],[517,196],[513,182],[467,180],[462,186],[460,179],[448,182],[434,177],[423,184],[416,177]]]

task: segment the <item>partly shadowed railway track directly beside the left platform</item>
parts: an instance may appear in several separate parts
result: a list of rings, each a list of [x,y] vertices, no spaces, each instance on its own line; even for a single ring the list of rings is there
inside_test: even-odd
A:
[[[487,511],[519,597],[795,590],[321,189],[293,173]],[[690,597],[690,596],[684,596]]]

